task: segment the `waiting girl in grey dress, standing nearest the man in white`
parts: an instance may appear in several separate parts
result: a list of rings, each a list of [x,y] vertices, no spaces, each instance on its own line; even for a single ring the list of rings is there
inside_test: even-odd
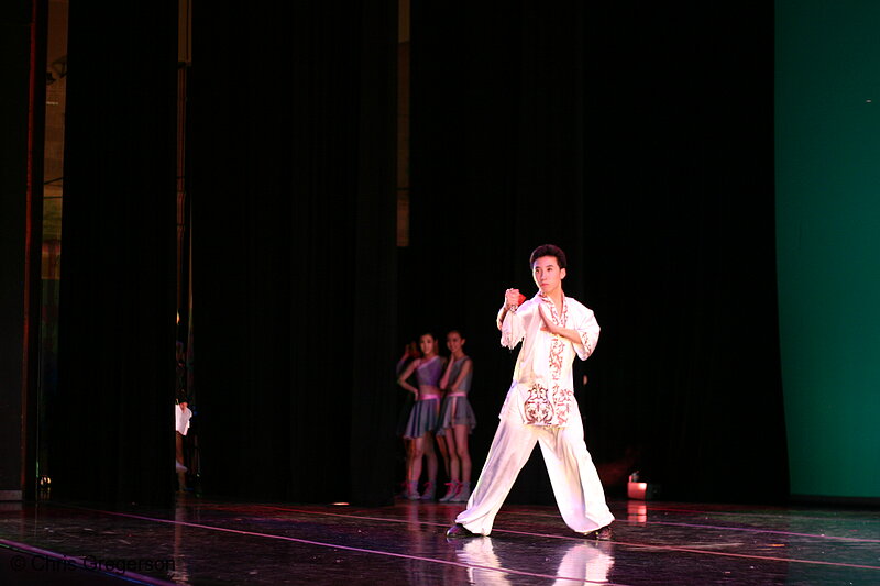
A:
[[[468,435],[476,427],[476,417],[468,400],[473,376],[473,362],[464,354],[464,338],[458,330],[447,334],[447,347],[451,353],[447,368],[440,379],[440,388],[446,390],[440,407],[440,431],[438,441],[446,442],[449,453],[449,489],[441,502],[466,502],[471,496],[471,454]]]

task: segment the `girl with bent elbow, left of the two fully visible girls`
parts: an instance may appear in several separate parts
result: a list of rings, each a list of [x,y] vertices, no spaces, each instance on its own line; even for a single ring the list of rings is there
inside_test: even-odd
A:
[[[410,500],[435,498],[437,490],[437,453],[433,450],[435,432],[440,416],[440,376],[443,374],[446,360],[437,354],[437,338],[431,333],[419,338],[421,357],[416,358],[397,378],[397,384],[416,397],[416,403],[409,414],[405,438],[413,440],[409,458],[409,474],[405,497]],[[407,378],[416,373],[418,387],[407,383]],[[418,480],[421,477],[422,457],[428,464],[428,482],[425,491],[419,495]]]

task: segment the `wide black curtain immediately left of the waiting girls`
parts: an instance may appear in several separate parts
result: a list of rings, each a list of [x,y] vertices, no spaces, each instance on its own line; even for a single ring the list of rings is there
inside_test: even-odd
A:
[[[196,7],[202,490],[391,502],[396,2]]]

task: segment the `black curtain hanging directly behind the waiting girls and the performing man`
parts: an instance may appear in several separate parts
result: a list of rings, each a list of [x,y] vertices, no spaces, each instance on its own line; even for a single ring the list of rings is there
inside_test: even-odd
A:
[[[552,242],[572,266],[566,292],[586,301],[583,25],[574,2],[413,9],[411,246],[400,264],[400,336],[463,332],[479,419],[474,482],[516,358],[495,328],[504,290],[531,296],[529,253]],[[532,458],[509,499],[549,498],[543,463]]]

